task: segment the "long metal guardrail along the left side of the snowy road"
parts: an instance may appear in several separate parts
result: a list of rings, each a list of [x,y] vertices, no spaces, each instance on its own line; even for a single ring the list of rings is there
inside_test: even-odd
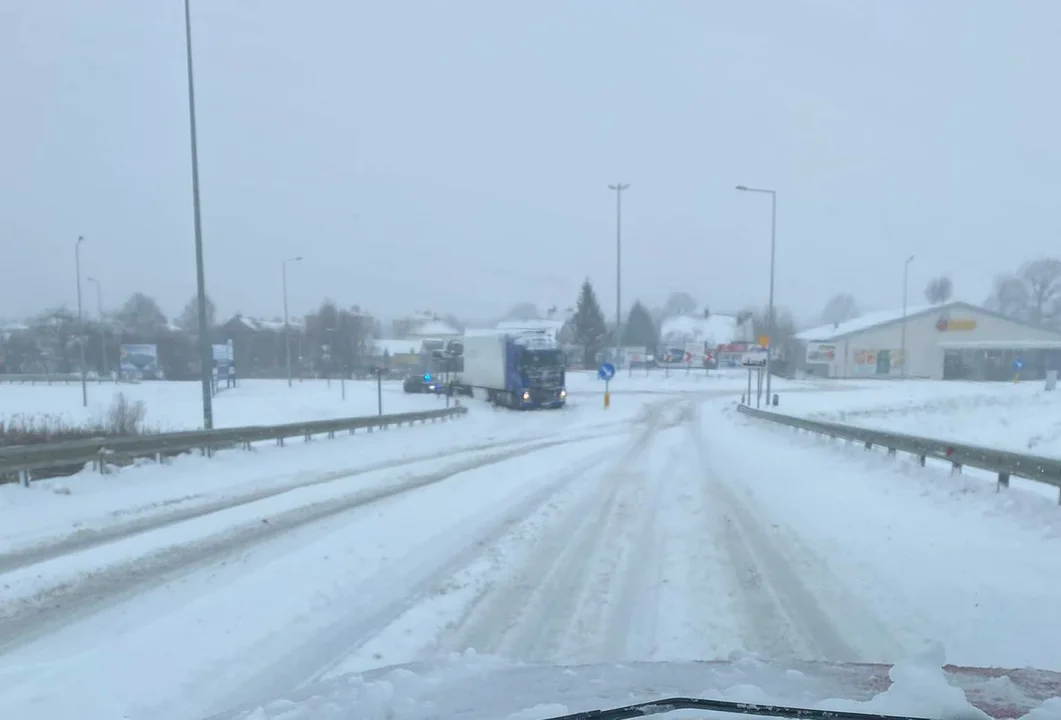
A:
[[[119,464],[136,458],[154,458],[161,462],[164,457],[194,451],[209,456],[223,447],[242,445],[249,450],[251,443],[263,440],[276,440],[278,445],[283,445],[283,441],[288,438],[301,437],[306,441],[310,441],[316,435],[333,438],[341,432],[352,434],[356,429],[371,432],[377,427],[386,429],[390,425],[401,427],[406,423],[445,421],[467,411],[468,408],[457,406],[419,412],[313,420],[283,425],[250,425],[138,437],[89,438],[38,445],[10,445],[0,447],[0,480],[14,479],[17,476],[19,482],[29,487],[32,479],[69,474],[62,471],[76,471],[90,462],[101,473],[106,473],[108,464]]]

